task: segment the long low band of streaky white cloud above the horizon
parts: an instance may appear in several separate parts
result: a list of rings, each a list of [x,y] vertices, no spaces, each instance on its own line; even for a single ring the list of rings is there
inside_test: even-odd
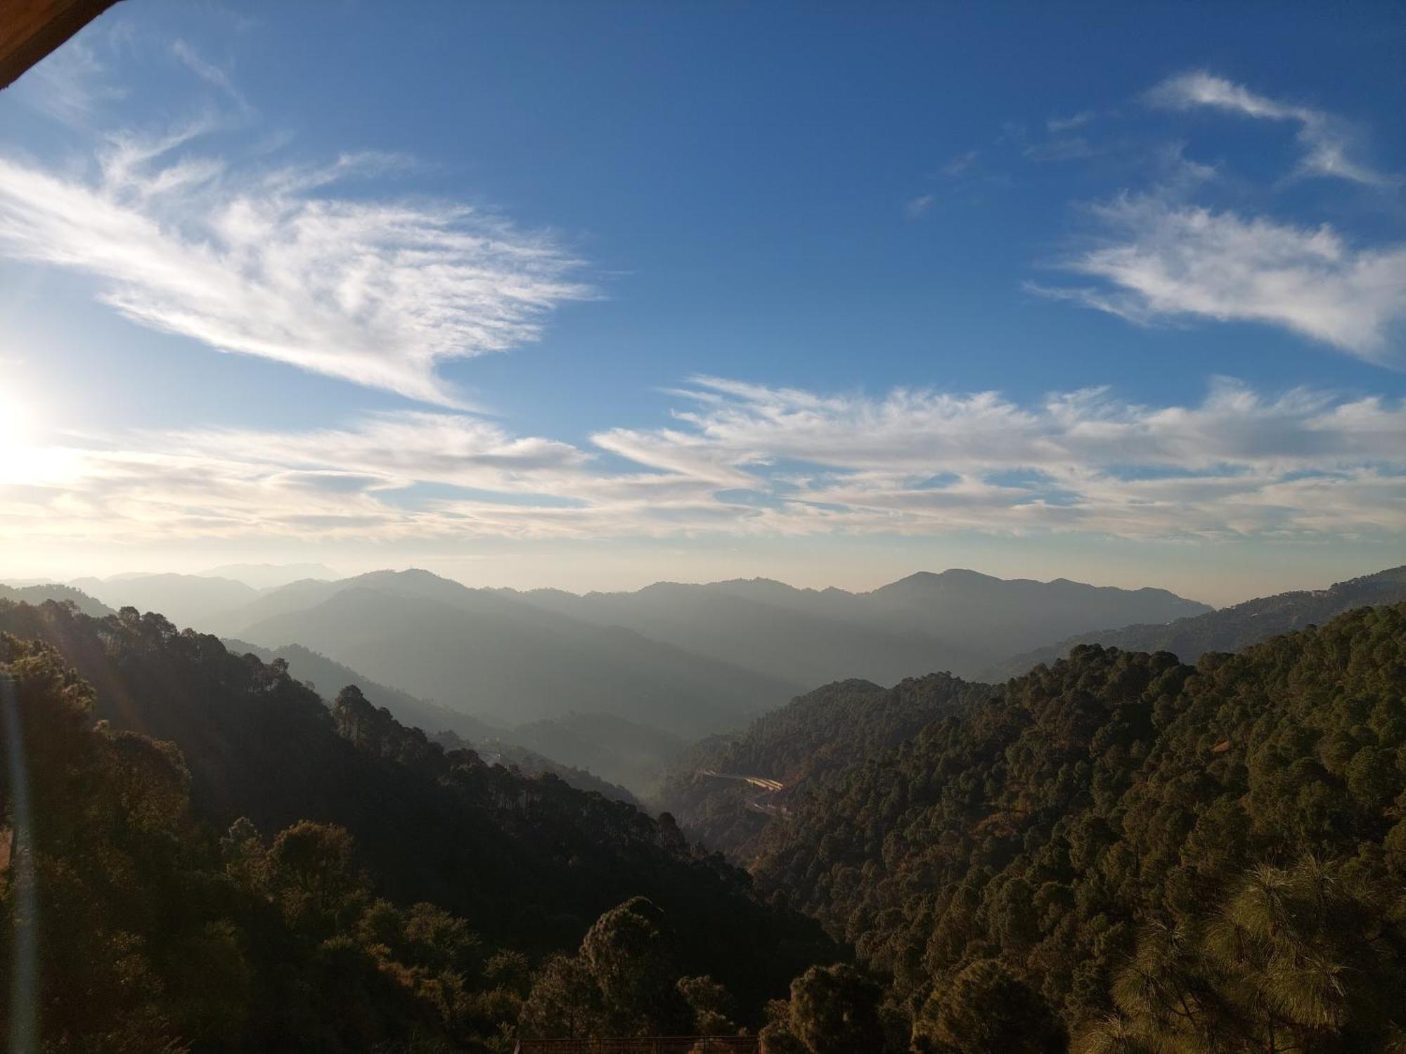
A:
[[[609,429],[589,447],[429,412],[70,443],[0,475],[0,537],[1406,533],[1399,401],[1232,381],[1187,406],[1104,389],[1019,405],[721,378],[678,395],[688,405],[671,427]]]

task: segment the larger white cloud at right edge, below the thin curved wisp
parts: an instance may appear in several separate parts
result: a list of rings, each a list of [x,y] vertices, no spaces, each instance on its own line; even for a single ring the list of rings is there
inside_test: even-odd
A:
[[[1036,292],[1147,323],[1209,318],[1264,322],[1361,358],[1400,358],[1406,246],[1355,249],[1333,228],[1299,228],[1234,212],[1123,195],[1094,208],[1109,236],[1066,261],[1102,280]]]

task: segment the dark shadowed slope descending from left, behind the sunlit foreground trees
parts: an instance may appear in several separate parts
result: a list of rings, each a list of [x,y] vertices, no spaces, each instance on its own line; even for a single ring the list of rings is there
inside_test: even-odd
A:
[[[150,614],[0,601],[0,631],[58,648],[97,689],[94,717],[174,742],[202,821],[344,826],[377,892],[439,904],[485,937],[574,947],[592,919],[643,894],[669,912],[692,972],[725,978],[754,1008],[824,954],[808,925],[754,899],[745,876],[693,854],[672,824],[446,752],[356,689],[329,710],[281,663]]]

